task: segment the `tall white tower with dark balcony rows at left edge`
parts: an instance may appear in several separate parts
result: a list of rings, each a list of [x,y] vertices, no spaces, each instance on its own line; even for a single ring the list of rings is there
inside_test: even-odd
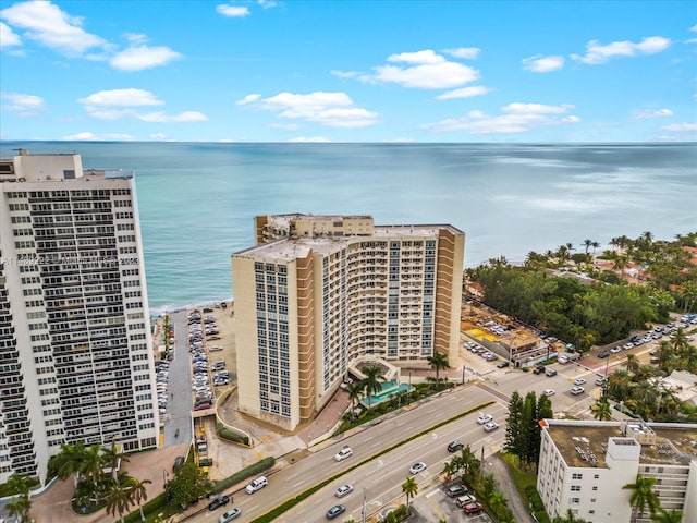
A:
[[[133,173],[0,160],[0,482],[61,443],[156,447],[154,390]]]

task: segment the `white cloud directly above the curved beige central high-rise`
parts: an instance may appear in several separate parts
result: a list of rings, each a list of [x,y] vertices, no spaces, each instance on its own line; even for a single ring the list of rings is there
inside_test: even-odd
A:
[[[278,118],[307,120],[329,127],[367,127],[378,123],[377,112],[356,107],[345,93],[280,93],[255,99],[253,107],[278,112]]]

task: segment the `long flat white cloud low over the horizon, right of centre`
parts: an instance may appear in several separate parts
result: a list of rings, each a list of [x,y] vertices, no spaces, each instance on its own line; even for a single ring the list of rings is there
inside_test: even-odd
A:
[[[465,131],[470,134],[525,133],[539,127],[578,123],[580,119],[565,115],[574,106],[545,106],[541,104],[509,104],[501,108],[502,114],[489,115],[482,111],[470,111],[462,118],[451,118],[425,125],[437,133]]]

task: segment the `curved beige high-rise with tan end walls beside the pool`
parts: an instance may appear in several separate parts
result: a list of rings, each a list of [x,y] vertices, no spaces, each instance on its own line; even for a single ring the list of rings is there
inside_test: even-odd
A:
[[[457,354],[462,231],[311,215],[255,228],[257,245],[232,256],[241,412],[294,430],[357,358]]]

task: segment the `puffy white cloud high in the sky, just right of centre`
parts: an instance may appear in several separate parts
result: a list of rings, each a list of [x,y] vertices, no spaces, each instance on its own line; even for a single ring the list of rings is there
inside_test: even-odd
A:
[[[402,87],[421,89],[449,89],[479,78],[479,71],[451,62],[430,49],[417,52],[392,54],[389,62],[403,62],[402,65],[378,65],[375,74],[362,75],[364,82],[384,82]]]

